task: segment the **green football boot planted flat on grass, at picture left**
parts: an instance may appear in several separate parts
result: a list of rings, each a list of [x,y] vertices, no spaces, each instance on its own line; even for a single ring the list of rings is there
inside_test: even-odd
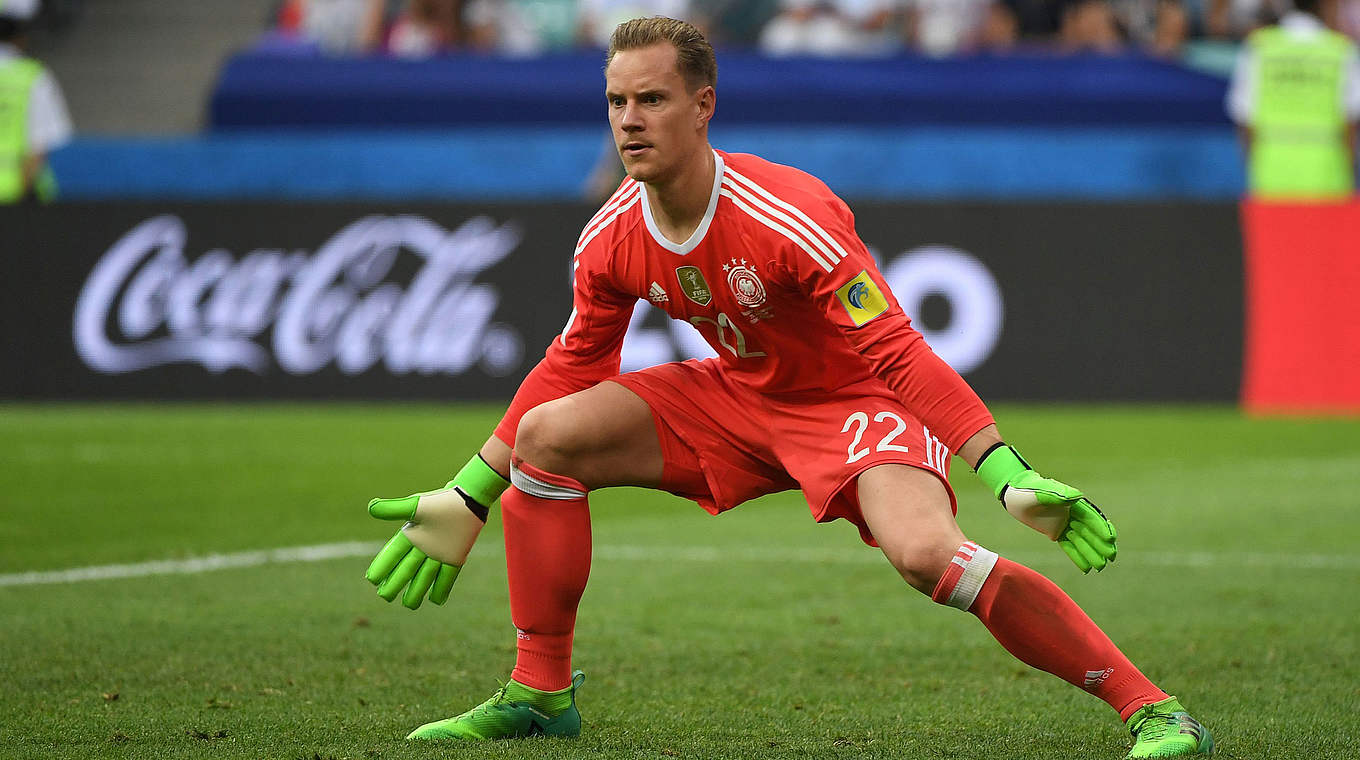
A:
[[[426,723],[407,738],[495,740],[524,737],[574,737],[581,734],[577,689],[586,674],[577,670],[571,685],[540,692],[511,680],[491,699],[454,718]]]

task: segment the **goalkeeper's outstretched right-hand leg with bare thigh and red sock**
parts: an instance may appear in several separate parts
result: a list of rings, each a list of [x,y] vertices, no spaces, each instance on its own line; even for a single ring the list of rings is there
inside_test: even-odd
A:
[[[934,474],[876,466],[860,476],[858,495],[865,523],[903,579],[938,604],[975,615],[1021,662],[1091,692],[1125,721],[1171,699],[1057,585],[967,541]],[[1185,744],[1202,746],[1198,734],[1193,738]]]

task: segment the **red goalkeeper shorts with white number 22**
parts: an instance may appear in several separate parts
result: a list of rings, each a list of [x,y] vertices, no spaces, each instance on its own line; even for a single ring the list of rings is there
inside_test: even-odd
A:
[[[843,518],[877,545],[860,514],[855,479],[883,464],[923,469],[949,488],[949,450],[876,378],[835,392],[762,396],[717,360],[688,360],[611,381],[651,408],[665,457],[662,488],[718,514],[801,488],[817,522]]]

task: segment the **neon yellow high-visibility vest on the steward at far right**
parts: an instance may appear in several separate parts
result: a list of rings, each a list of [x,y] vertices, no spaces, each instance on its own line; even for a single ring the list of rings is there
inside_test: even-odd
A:
[[[1251,193],[1276,198],[1334,198],[1355,189],[1341,92],[1355,46],[1323,30],[1299,38],[1268,27],[1247,39],[1257,60],[1251,121]]]

